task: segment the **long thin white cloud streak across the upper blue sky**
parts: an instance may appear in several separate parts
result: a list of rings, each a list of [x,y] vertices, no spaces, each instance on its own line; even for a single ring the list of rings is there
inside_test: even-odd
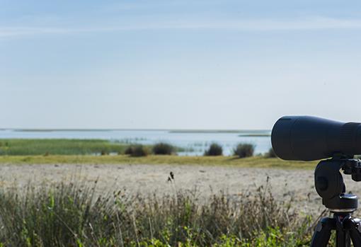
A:
[[[42,27],[0,27],[0,38],[29,35],[67,35],[81,33],[112,33],[127,30],[323,30],[323,29],[360,29],[361,20],[335,18],[307,18],[303,20],[245,20],[245,21],[193,21],[188,23],[154,23],[94,28],[42,28]]]

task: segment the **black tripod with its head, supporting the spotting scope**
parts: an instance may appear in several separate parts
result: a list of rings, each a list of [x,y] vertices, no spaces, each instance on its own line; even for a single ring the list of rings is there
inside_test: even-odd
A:
[[[352,175],[353,180],[361,180],[361,161],[334,157],[321,161],[315,169],[315,188],[322,197],[322,203],[333,217],[319,221],[312,237],[311,247],[326,247],[331,231],[336,231],[336,247],[361,247],[361,219],[351,214],[357,209],[357,196],[345,194],[345,183],[340,173]]]

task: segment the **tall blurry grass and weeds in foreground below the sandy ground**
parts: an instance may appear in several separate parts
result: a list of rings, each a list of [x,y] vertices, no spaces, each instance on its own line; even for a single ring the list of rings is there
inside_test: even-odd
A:
[[[313,223],[265,188],[205,202],[179,191],[97,196],[72,183],[0,190],[1,246],[309,246]]]

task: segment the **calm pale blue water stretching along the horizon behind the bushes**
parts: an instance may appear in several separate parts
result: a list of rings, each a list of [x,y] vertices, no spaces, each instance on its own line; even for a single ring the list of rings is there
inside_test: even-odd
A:
[[[0,138],[24,139],[108,139],[125,143],[154,144],[168,142],[185,149],[179,155],[200,156],[212,142],[222,145],[224,155],[232,153],[236,144],[256,145],[256,154],[270,149],[270,131],[171,131],[171,130],[0,130]]]

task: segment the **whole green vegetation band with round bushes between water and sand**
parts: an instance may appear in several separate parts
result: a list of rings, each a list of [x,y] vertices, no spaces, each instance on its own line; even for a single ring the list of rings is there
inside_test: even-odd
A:
[[[239,151],[241,156],[253,154],[252,150],[248,150],[251,148],[247,145],[239,145],[236,151]],[[154,153],[164,155],[147,155],[151,149],[151,146],[98,139],[0,139],[0,163],[147,163],[268,168],[314,168],[315,166],[315,162],[265,159],[270,154],[246,159],[237,159],[240,157],[239,154],[237,156],[176,156],[164,153],[169,153],[170,149],[181,151],[178,147],[157,144],[153,147]],[[222,154],[221,149],[213,144],[206,154]]]

